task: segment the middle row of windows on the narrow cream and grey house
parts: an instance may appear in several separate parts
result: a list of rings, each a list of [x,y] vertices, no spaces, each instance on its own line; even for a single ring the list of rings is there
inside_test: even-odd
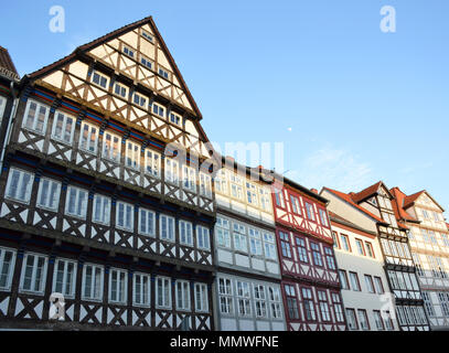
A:
[[[232,224],[232,227],[231,227]],[[217,246],[234,248],[236,252],[255,256],[264,256],[269,259],[277,259],[275,235],[263,232],[254,227],[246,227],[237,222],[229,222],[227,218],[217,216],[215,223],[215,238]]]

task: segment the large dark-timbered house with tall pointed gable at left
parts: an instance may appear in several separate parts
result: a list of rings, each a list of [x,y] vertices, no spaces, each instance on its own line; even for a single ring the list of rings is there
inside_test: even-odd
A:
[[[207,137],[153,20],[25,76],[19,98],[0,176],[0,327],[213,330]]]

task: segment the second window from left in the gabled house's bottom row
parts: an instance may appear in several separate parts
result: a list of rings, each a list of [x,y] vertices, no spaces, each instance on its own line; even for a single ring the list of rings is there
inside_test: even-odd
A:
[[[47,258],[26,254],[23,259],[20,290],[43,295],[45,290]]]

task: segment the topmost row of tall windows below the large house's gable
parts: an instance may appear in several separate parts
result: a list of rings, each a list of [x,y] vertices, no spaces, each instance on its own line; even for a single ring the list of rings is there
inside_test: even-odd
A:
[[[49,106],[30,99],[28,101],[22,128],[44,135],[49,111]],[[52,127],[52,138],[60,142],[73,145],[75,122],[75,117],[56,110]],[[78,148],[85,152],[97,156],[99,135],[98,126],[83,121]],[[125,149],[125,167],[137,171],[143,168],[145,173],[158,179],[161,178],[160,153],[151,149],[145,149],[142,156],[142,147],[139,143],[132,142],[131,140],[122,141],[121,137],[110,131],[104,132],[101,158],[120,163],[122,148]],[[179,161],[168,157],[165,157],[164,161],[165,181],[177,185],[181,184],[186,190],[200,192],[202,195],[212,197],[212,182],[210,175],[202,172],[199,173],[194,168],[189,165],[180,165]]]

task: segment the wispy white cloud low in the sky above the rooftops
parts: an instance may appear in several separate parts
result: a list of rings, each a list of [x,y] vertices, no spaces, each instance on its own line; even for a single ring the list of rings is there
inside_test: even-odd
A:
[[[328,186],[343,192],[361,190],[373,182],[368,163],[359,161],[352,151],[330,147],[311,153],[299,169],[287,172],[286,176],[306,188]]]

